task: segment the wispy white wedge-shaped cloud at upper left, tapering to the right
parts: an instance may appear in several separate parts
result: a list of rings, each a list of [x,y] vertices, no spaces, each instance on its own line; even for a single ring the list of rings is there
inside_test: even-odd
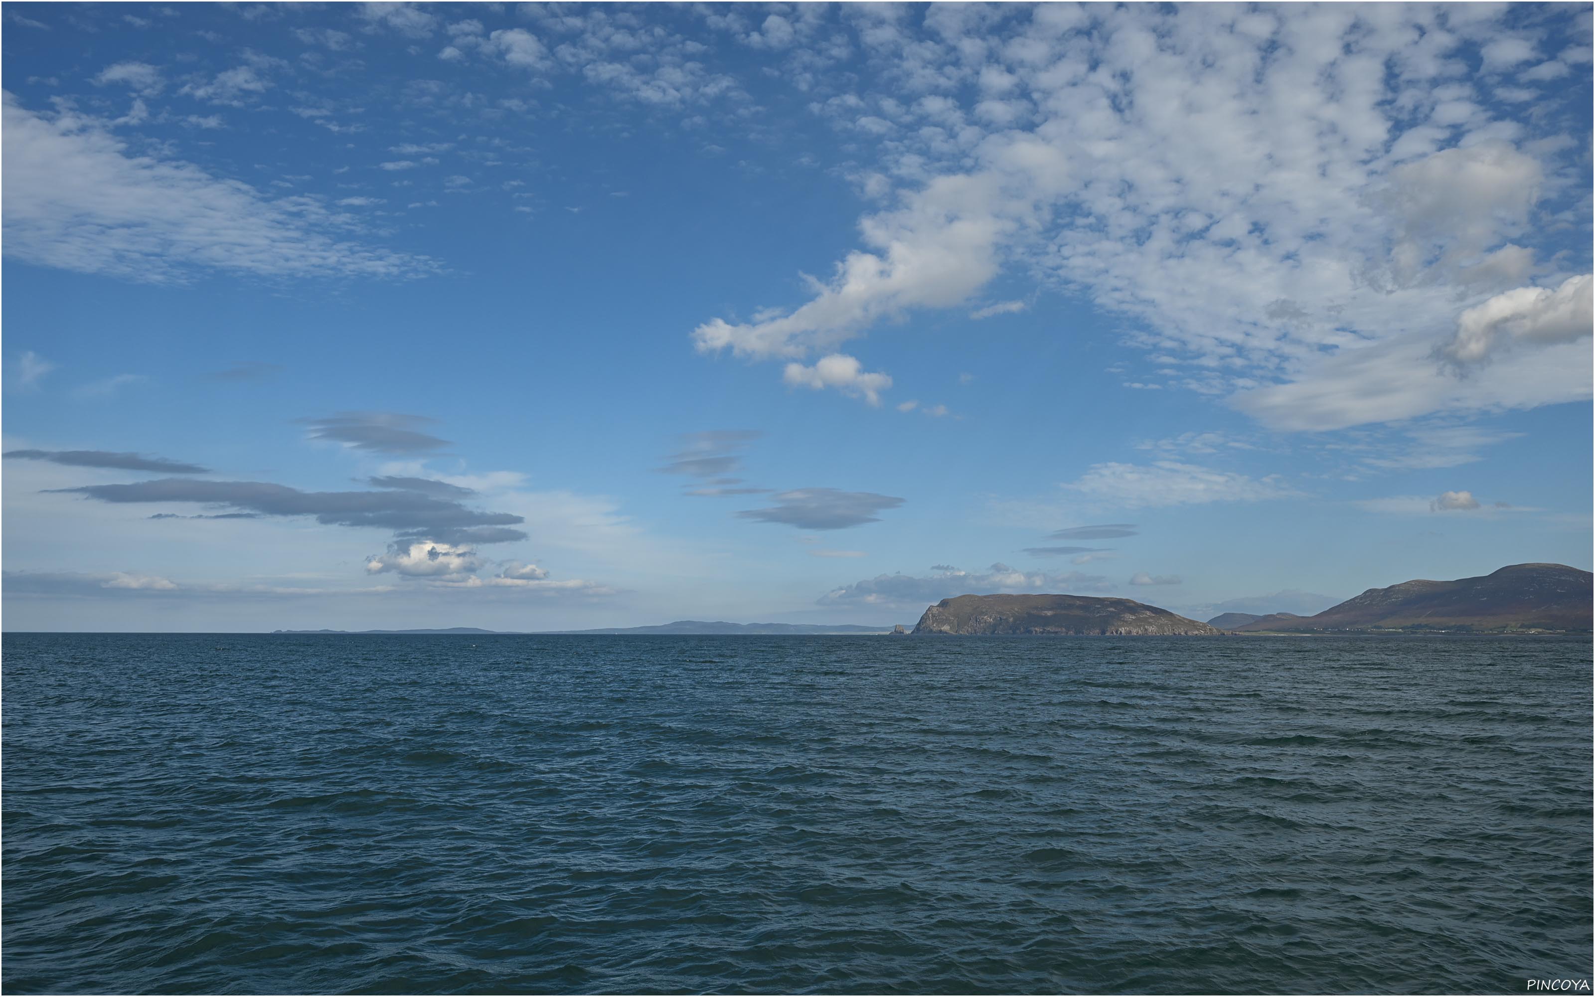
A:
[[[105,123],[53,118],[5,94],[5,252],[29,263],[136,281],[180,281],[193,270],[255,276],[396,278],[431,260],[329,234],[308,198],[271,199],[238,180],[134,155]]]

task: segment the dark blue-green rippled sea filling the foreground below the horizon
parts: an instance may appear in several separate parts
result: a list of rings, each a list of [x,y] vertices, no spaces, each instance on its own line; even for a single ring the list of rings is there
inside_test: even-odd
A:
[[[1522,992],[1590,648],[6,635],[6,992]]]

